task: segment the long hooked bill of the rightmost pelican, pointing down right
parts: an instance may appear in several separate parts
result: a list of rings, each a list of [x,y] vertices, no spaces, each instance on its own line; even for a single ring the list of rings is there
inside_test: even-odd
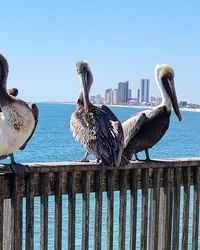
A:
[[[168,86],[169,86],[169,93],[168,94],[169,94],[169,97],[171,99],[174,112],[175,112],[176,116],[178,117],[179,121],[181,121],[182,117],[181,117],[181,113],[180,113],[179,106],[178,106],[178,100],[177,100],[177,96],[176,96],[174,80],[173,80],[173,78],[172,79],[168,78],[167,81],[168,81]]]

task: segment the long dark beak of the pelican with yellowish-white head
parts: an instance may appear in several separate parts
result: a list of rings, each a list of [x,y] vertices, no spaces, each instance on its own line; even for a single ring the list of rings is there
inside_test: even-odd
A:
[[[181,121],[182,117],[181,117],[181,113],[180,113],[179,106],[178,106],[178,100],[177,100],[177,96],[176,96],[176,90],[175,90],[175,86],[174,86],[173,77],[164,77],[163,83],[164,83],[164,87],[165,87],[165,89],[166,89],[166,91],[171,99],[174,112],[175,112],[176,116],[178,117],[179,121]]]

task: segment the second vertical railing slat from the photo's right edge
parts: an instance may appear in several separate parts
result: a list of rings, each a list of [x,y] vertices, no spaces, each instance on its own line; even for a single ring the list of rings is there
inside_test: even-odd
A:
[[[189,202],[190,202],[190,173],[191,169],[183,170],[184,183],[184,205],[182,222],[182,250],[188,249],[188,222],[189,222]]]

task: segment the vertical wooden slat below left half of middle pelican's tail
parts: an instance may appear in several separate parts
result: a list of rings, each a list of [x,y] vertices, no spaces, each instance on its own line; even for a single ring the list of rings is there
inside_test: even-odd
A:
[[[108,171],[107,191],[107,250],[113,249],[113,212],[114,212],[114,171]]]

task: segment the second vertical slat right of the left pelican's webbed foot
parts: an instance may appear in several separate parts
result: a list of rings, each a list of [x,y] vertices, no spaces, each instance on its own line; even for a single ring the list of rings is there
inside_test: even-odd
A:
[[[40,249],[48,249],[48,174],[40,179]]]

